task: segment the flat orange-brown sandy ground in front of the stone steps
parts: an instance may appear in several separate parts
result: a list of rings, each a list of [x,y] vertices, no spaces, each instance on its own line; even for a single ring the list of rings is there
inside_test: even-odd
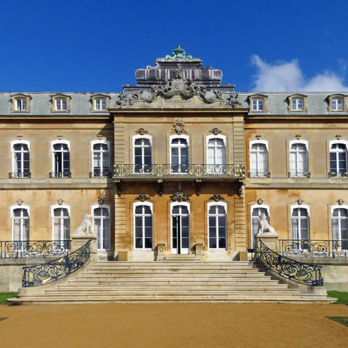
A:
[[[0,306],[0,347],[348,347],[344,305]]]

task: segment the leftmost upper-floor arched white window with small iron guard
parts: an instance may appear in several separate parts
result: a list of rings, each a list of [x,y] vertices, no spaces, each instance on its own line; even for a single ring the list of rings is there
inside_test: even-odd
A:
[[[12,168],[13,173],[10,173],[9,177],[22,178],[31,177],[30,173],[30,143],[29,141],[11,141],[11,151],[13,154]]]

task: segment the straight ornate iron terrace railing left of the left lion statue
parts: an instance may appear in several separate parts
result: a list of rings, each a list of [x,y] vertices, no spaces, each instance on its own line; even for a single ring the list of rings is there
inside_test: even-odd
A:
[[[67,255],[70,240],[0,241],[0,259],[56,258]]]

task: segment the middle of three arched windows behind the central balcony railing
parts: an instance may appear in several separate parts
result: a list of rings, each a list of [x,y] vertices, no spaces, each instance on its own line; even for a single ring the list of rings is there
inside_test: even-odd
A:
[[[189,170],[189,136],[171,136],[171,172],[187,173]]]

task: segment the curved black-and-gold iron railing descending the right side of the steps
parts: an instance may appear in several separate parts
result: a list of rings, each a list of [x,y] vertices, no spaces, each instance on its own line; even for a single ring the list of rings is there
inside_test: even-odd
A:
[[[264,266],[297,283],[313,286],[324,285],[322,266],[292,260],[271,250],[262,240],[259,243],[257,260]]]

